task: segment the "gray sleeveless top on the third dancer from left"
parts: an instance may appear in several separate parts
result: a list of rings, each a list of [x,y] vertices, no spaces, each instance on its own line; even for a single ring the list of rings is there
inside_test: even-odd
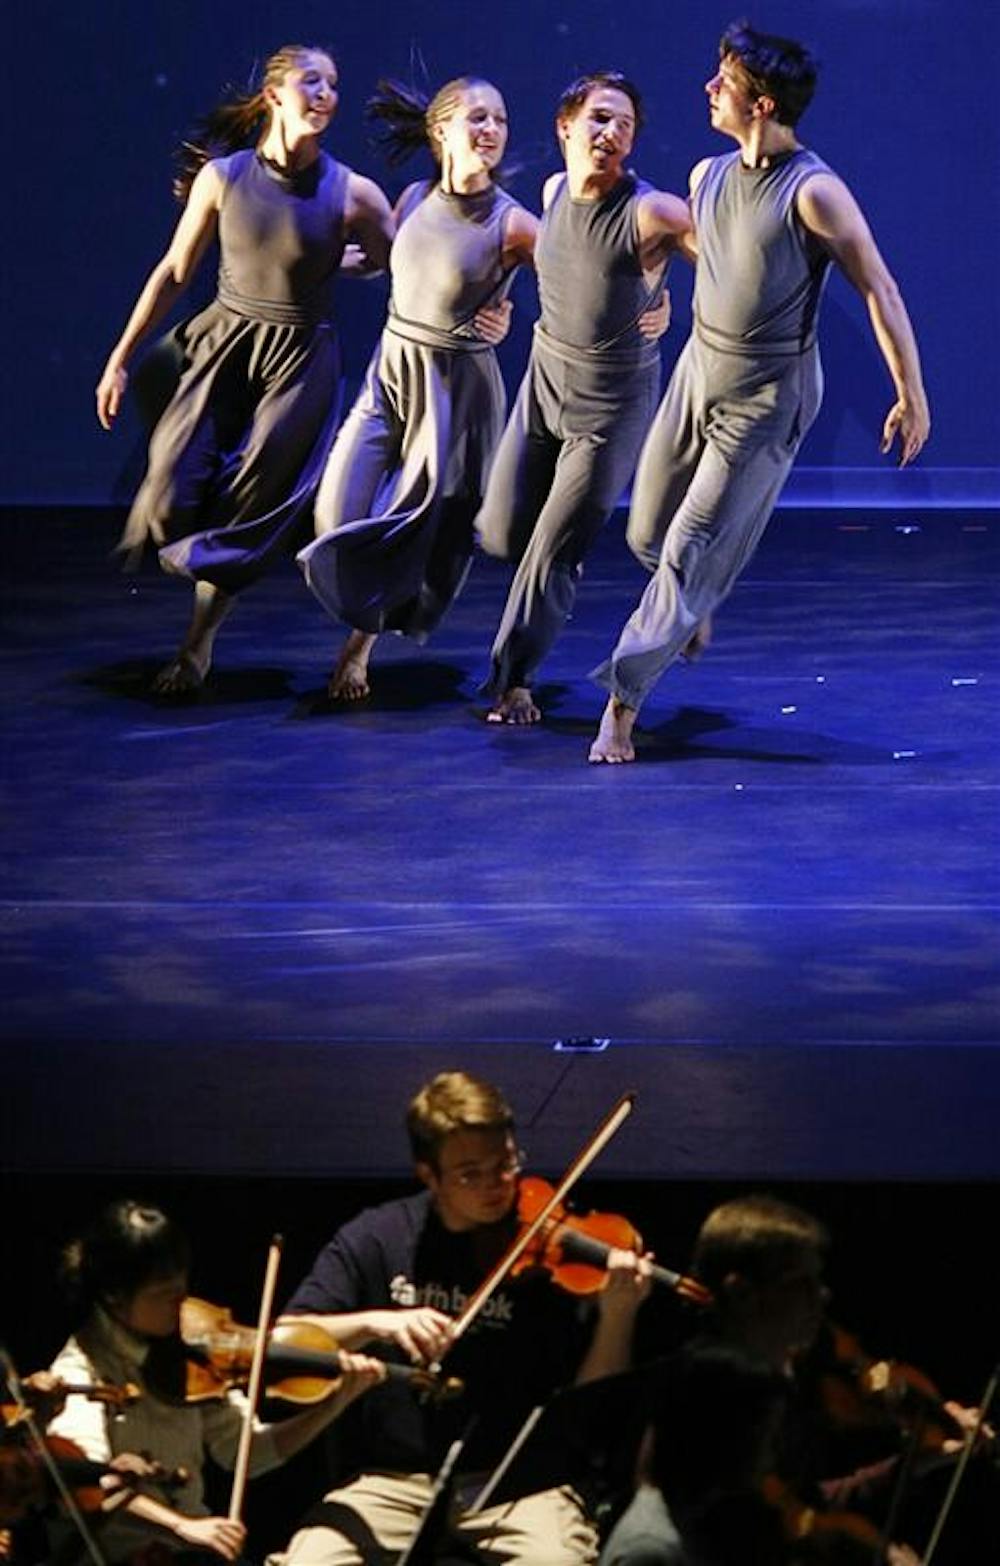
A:
[[[638,318],[660,291],[638,258],[637,208],[651,186],[626,174],[601,200],[574,200],[563,177],[541,216],[535,246],[538,341],[562,359],[623,368],[659,363]]]

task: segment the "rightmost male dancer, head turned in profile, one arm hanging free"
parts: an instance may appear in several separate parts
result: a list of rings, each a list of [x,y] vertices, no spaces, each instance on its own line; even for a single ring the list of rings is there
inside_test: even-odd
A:
[[[629,543],[653,579],[610,659],[592,761],[632,761],[635,714],[664,670],[707,642],[712,611],[753,554],[818,412],[815,341],[831,262],[864,296],[897,390],[883,451],[900,462],[930,421],[906,310],[847,186],[800,146],[815,85],[801,44],[726,31],[707,83],[712,124],[740,150],[692,174],[695,324],[635,474]]]

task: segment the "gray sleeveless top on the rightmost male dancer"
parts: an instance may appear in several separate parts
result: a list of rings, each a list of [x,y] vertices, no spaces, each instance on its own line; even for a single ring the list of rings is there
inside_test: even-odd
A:
[[[739,152],[710,160],[695,191],[695,327],[710,348],[801,354],[815,343],[829,257],[795,215],[812,174],[829,168],[804,147],[762,169]]]

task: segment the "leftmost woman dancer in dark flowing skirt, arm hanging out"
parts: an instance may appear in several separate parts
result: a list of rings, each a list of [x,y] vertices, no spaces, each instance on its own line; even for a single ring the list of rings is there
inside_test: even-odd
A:
[[[319,149],[336,97],[330,56],[288,45],[258,92],[210,116],[178,182],[185,213],[97,387],[108,429],[131,352],[218,236],[216,299],[180,334],[180,377],[122,539],[130,551],[153,539],[163,567],[196,584],[188,634],[155,683],[163,694],[203,681],[233,597],[302,542],[340,407],[330,283],[349,232],[376,265],[388,254],[388,202]],[[257,147],[236,150],[249,139]]]

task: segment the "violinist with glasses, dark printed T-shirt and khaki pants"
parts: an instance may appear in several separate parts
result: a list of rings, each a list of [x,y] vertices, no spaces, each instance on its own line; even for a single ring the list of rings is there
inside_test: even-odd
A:
[[[523,1157],[510,1106],[465,1071],[427,1082],[407,1112],[423,1190],[362,1212],[319,1253],[288,1312],[315,1317],[347,1347],[416,1362],[444,1359],[466,1398],[421,1406],[379,1386],[358,1403],[343,1481],[321,1516],[299,1530],[288,1566],[360,1566],[397,1557],[427,1506],[432,1475],[451,1442],[476,1425],[457,1461],[455,1527],[482,1561],[585,1566],[596,1532],[568,1486],[469,1513],[465,1500],[496,1464],[526,1414],[554,1389],[626,1369],[648,1264],[612,1251],[596,1306],[548,1275],[505,1279],[454,1342],[454,1319],[518,1231]],[[379,1553],[382,1558],[382,1553]]]

